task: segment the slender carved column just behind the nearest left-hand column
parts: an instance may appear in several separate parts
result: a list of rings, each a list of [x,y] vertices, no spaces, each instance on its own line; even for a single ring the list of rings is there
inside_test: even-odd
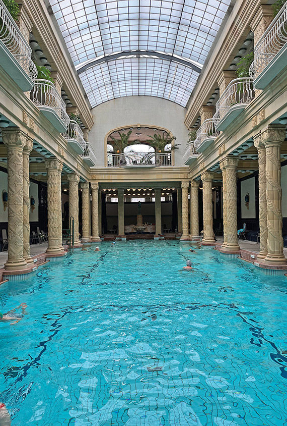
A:
[[[23,148],[23,237],[24,237],[24,259],[27,263],[33,263],[30,254],[30,178],[29,157],[33,149],[33,140],[27,137]]]

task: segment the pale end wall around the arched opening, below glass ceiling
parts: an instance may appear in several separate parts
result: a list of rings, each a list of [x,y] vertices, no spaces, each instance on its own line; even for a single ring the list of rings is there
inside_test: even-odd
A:
[[[180,143],[175,150],[175,165],[183,165],[182,156],[188,139],[184,125],[186,110],[177,103],[154,96],[125,96],[104,102],[93,108],[94,126],[89,134],[89,142],[95,149],[96,166],[104,166],[104,139],[107,133],[118,127],[146,125],[164,127]]]

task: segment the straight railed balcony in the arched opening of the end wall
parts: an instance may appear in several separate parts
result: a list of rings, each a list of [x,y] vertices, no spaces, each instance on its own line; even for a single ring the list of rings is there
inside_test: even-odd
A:
[[[123,152],[108,153],[109,167],[159,167],[171,166],[171,152]]]

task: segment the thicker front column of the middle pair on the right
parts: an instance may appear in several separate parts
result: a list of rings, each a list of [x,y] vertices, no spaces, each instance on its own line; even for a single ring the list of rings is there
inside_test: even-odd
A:
[[[227,241],[223,251],[237,252],[240,250],[237,238],[237,165],[238,158],[228,156],[224,159],[226,171],[226,224]]]

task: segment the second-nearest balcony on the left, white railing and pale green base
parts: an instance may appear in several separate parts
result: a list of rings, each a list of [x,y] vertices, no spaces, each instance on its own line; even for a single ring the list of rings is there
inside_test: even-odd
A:
[[[65,102],[55,86],[50,81],[41,79],[34,80],[34,84],[31,92],[33,102],[58,132],[66,132],[70,119]]]

